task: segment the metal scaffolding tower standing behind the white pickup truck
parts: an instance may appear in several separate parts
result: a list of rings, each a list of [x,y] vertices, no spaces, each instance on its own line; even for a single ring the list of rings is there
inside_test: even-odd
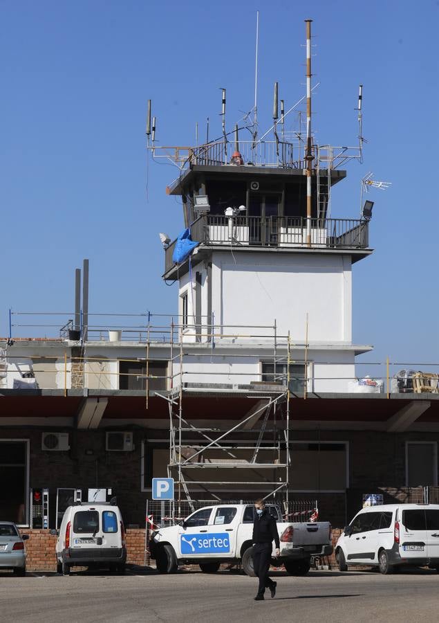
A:
[[[236,489],[245,487],[248,491],[256,487],[264,491],[264,498],[273,498],[288,504],[288,483],[290,477],[290,336],[287,339],[287,356],[280,359],[287,363],[286,379],[277,381],[278,336],[277,325],[272,327],[245,327],[249,329],[272,329],[272,356],[274,381],[256,381],[250,386],[234,383],[228,388],[223,383],[185,383],[186,373],[193,374],[193,370],[185,370],[185,338],[188,330],[185,325],[172,325],[171,332],[178,331],[178,344],[175,356],[171,356],[173,374],[171,375],[171,390],[156,392],[156,395],[167,401],[169,410],[169,462],[167,475],[174,478],[176,487],[176,502],[180,514],[180,504],[183,500],[194,509],[194,495],[196,498],[210,497],[212,501],[220,502],[233,496]],[[235,340],[241,338],[266,339],[266,335],[252,333],[238,334],[238,327],[221,327],[222,331],[214,333],[214,325],[208,325],[200,338],[205,338],[212,344],[212,350],[204,357],[211,359],[214,339]],[[193,327],[194,331],[202,331],[200,327]],[[235,332],[233,332],[235,329]],[[241,329],[242,330],[242,329]],[[189,355],[190,356],[190,355]],[[203,354],[200,358],[200,368],[203,368]],[[174,365],[176,373],[174,374]],[[209,374],[200,370],[198,374]],[[218,372],[216,372],[218,374]],[[221,374],[221,372],[219,373]],[[234,374],[228,372],[227,374]],[[238,373],[240,374],[240,373]],[[177,380],[174,386],[175,380]],[[148,381],[147,381],[148,382]],[[236,413],[225,423],[213,425],[197,424],[198,420],[187,413],[185,402],[187,397],[199,395],[200,392],[212,392],[212,395],[223,396],[236,394],[249,399],[249,408],[243,413]],[[148,392],[147,392],[148,393]],[[250,404],[250,399],[251,404]],[[227,409],[227,407],[225,407]],[[230,414],[227,414],[230,415]],[[213,474],[213,476],[212,476]],[[237,476],[235,476],[235,474]],[[238,476],[239,474],[239,476]],[[206,476],[205,476],[206,475]],[[215,477],[216,476],[216,477]],[[223,494],[223,498],[221,497]]]

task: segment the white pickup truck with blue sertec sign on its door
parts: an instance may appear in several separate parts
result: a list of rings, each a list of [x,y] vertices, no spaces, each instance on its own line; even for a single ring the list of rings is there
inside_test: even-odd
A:
[[[305,575],[311,556],[333,553],[328,521],[290,523],[283,521],[279,507],[266,507],[277,520],[281,542],[281,555],[272,560],[274,566],[285,566],[290,575]],[[221,563],[241,563],[244,572],[254,576],[253,520],[254,505],[203,507],[177,525],[153,530],[149,552],[160,573],[173,573],[180,564],[198,564],[203,572],[214,573]]]

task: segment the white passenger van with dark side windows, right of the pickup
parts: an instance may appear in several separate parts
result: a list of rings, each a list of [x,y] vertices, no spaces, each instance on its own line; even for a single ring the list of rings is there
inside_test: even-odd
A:
[[[383,504],[363,508],[335,545],[340,571],[370,565],[391,573],[404,565],[439,572],[439,505]]]

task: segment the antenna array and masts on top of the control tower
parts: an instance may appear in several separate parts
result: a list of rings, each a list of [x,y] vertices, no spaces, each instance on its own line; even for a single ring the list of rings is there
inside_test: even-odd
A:
[[[306,239],[310,243],[310,206],[312,205],[312,176],[319,170],[328,170],[328,181],[322,188],[328,184],[330,188],[330,170],[340,168],[346,161],[358,160],[363,161],[362,146],[367,142],[362,134],[362,98],[363,85],[359,85],[358,93],[358,111],[357,119],[359,125],[358,144],[356,147],[335,147],[333,145],[318,145],[312,136],[312,106],[311,96],[313,91],[319,87],[319,82],[312,86],[311,72],[311,23],[312,19],[306,19],[306,95],[299,99],[287,111],[285,110],[284,100],[281,100],[281,116],[279,119],[279,83],[274,84],[274,102],[273,102],[273,123],[267,132],[259,136],[259,120],[258,120],[258,64],[259,64],[259,11],[256,11],[256,49],[255,49],[255,67],[254,67],[254,107],[250,113],[245,115],[250,118],[253,112],[253,119],[250,120],[249,127],[252,134],[251,141],[240,142],[243,161],[248,165],[254,166],[272,166],[303,169],[307,177],[307,208],[306,208]],[[147,109],[147,149],[151,152],[153,159],[167,159],[176,165],[180,172],[191,165],[227,165],[232,155],[233,141],[230,136],[235,134],[236,129],[227,132],[225,111],[226,111],[226,89],[221,87],[221,136],[212,140],[210,138],[209,118],[206,125],[206,142],[198,144],[198,124],[196,124],[196,141],[192,147],[188,146],[168,146],[156,145],[156,117],[152,117],[151,121],[151,100],[148,100]],[[297,109],[303,100],[306,99],[306,137],[301,131],[301,116],[299,115],[299,132],[288,132],[285,128],[285,119],[291,111]],[[281,136],[278,134],[278,124],[281,123]],[[273,140],[266,141],[265,137],[273,132]],[[230,138],[230,141],[229,141]],[[235,150],[237,151],[237,150]],[[230,153],[229,153],[230,152]],[[317,174],[319,178],[319,174]],[[323,190],[326,195],[326,188]],[[317,186],[317,195],[319,187]]]

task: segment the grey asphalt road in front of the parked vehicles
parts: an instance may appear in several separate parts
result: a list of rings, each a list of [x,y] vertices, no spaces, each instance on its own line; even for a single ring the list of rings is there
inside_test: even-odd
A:
[[[306,577],[274,573],[277,595],[254,602],[256,579],[222,571],[212,575],[156,572],[126,575],[82,572],[70,577],[0,575],[0,621],[151,623],[436,622],[436,571],[314,571]],[[268,592],[268,591],[267,591]]]

